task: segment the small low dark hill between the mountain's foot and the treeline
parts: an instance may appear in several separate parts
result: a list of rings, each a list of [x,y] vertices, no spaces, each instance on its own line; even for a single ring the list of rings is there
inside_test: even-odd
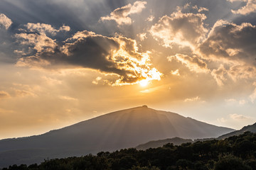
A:
[[[138,150],[146,150],[149,148],[163,147],[164,145],[166,145],[168,143],[172,143],[174,145],[181,145],[181,144],[187,143],[187,142],[193,142],[193,140],[185,140],[180,137],[174,137],[174,138],[166,139],[166,140],[154,140],[154,141],[146,142],[145,144],[138,145],[135,148]]]

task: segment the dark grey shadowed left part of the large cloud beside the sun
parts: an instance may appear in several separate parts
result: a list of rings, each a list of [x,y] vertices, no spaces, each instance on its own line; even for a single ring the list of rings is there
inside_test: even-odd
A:
[[[62,50],[55,52],[59,55],[53,58],[51,53],[43,53],[43,59],[50,60],[52,63],[67,62],[82,67],[92,69],[100,69],[103,72],[121,72],[115,67],[111,60],[114,50],[119,49],[119,42],[112,38],[107,38],[101,35],[95,35],[84,31],[84,37],[73,38],[73,42],[68,42]],[[81,34],[83,34],[81,33]],[[64,52],[64,53],[63,53]]]

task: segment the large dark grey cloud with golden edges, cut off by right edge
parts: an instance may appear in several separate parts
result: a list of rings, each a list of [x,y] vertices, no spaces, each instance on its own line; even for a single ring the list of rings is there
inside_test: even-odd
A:
[[[205,57],[213,60],[225,59],[256,66],[256,27],[250,23],[236,25],[218,21],[199,48]]]

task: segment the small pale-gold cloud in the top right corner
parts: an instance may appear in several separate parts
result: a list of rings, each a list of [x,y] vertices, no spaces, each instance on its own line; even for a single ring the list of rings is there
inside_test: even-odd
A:
[[[229,1],[230,2],[233,2],[233,1],[246,2],[246,5],[242,6],[242,8],[239,8],[238,10],[231,10],[235,14],[248,15],[256,11],[256,0],[229,0]]]

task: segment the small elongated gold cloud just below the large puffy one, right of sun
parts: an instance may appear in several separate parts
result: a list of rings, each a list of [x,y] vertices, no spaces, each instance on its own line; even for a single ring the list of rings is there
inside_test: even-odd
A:
[[[172,60],[181,62],[186,67],[188,67],[188,69],[190,69],[192,72],[208,72],[206,62],[203,62],[203,60],[201,60],[196,55],[190,57],[188,55],[176,54],[167,57],[167,59],[169,60],[169,62],[171,62]]]

